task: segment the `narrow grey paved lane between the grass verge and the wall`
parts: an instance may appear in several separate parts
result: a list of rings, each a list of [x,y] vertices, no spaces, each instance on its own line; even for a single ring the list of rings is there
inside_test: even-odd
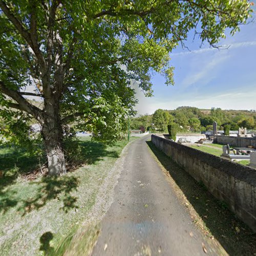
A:
[[[92,255],[217,255],[152,157],[145,136],[129,146]]]

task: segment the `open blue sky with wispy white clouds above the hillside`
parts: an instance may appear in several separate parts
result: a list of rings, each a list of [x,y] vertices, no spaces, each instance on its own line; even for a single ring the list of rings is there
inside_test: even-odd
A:
[[[253,1],[255,4],[255,1]],[[170,54],[175,67],[175,86],[166,86],[164,78],[152,78],[154,97],[146,98],[137,92],[138,114],[152,114],[157,109],[176,109],[178,106],[211,107],[236,110],[256,110],[256,16],[253,22],[241,26],[234,36],[226,33],[220,46],[228,49],[200,48],[193,33],[186,42],[187,49],[178,47]]]

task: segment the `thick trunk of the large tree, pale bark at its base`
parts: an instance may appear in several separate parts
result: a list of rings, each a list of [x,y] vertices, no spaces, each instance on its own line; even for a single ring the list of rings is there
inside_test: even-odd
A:
[[[59,106],[56,102],[47,103],[42,125],[49,174],[59,176],[67,173],[62,146],[63,132],[60,123]]]

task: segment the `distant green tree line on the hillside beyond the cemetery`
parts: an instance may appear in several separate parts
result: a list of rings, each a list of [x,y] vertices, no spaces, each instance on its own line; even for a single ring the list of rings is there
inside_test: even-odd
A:
[[[131,118],[131,129],[142,131],[157,130],[167,132],[167,125],[177,123],[180,131],[201,132],[212,130],[212,123],[218,123],[218,129],[224,130],[224,126],[231,131],[239,127],[256,129],[256,113],[245,110],[222,110],[211,108],[202,110],[191,106],[179,106],[176,110],[158,109],[152,115],[140,115]]]

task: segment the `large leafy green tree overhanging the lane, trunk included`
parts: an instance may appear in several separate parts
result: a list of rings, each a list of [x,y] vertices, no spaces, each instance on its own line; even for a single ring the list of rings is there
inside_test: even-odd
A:
[[[65,174],[63,126],[80,117],[96,138],[116,139],[136,102],[131,79],[146,95],[152,72],[173,84],[169,52],[190,30],[214,46],[249,13],[246,0],[0,0],[2,110],[37,120],[50,174]]]

